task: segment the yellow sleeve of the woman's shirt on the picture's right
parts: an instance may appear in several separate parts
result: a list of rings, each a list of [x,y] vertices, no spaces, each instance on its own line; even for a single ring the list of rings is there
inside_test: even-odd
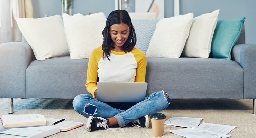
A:
[[[146,77],[146,68],[147,68],[147,59],[144,52],[140,51],[137,48],[132,50],[135,60],[137,62],[135,82],[145,82]]]

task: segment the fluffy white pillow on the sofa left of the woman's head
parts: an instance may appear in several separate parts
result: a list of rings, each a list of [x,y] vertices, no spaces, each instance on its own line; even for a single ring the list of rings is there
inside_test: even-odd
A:
[[[104,13],[91,15],[62,14],[71,59],[89,58],[91,51],[103,43],[102,31],[106,24]]]

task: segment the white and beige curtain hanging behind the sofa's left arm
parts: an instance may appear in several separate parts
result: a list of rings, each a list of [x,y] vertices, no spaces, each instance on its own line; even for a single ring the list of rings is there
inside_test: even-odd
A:
[[[33,18],[31,0],[0,0],[0,43],[22,41],[16,17]]]

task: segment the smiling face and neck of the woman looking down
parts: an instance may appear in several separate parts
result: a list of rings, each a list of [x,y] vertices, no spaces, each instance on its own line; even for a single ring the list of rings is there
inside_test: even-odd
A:
[[[127,24],[113,24],[110,26],[110,36],[114,42],[115,49],[112,49],[117,52],[121,52],[122,46],[127,41],[129,37],[130,27]]]

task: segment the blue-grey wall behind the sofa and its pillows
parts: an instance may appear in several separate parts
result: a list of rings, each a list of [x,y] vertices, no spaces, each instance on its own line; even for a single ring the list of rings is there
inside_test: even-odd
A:
[[[135,0],[129,1],[129,12],[135,11]],[[61,14],[61,0],[32,0],[34,18]],[[115,9],[115,0],[73,0],[72,14],[108,14]],[[174,0],[165,0],[165,17],[172,17]],[[220,9],[219,20],[246,16],[246,43],[256,43],[256,0],[180,0],[180,14],[194,13],[194,17]]]

